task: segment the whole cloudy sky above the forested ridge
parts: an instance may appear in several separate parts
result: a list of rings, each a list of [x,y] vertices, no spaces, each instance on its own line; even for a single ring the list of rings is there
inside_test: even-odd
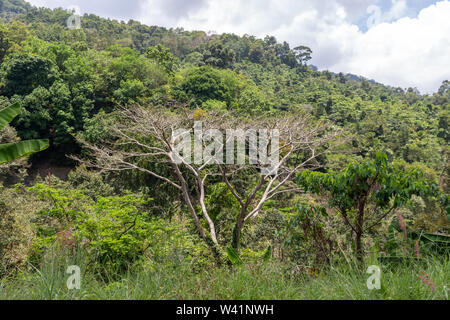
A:
[[[81,13],[307,45],[312,64],[422,93],[450,80],[450,1],[28,0]]]

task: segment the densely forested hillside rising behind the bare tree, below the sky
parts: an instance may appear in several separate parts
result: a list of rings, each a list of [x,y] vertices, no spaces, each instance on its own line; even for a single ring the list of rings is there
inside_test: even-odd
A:
[[[16,5],[12,12],[23,11],[16,7],[27,10]],[[82,131],[100,110],[176,99],[193,108],[223,104],[248,114],[302,108],[355,134],[360,156],[381,146],[408,163],[422,162],[439,173],[443,169],[448,82],[433,96],[422,96],[413,88],[313,71],[306,67],[309,48],[291,49],[270,36],[208,35],[94,15],[83,17],[82,30],[69,30],[69,16],[64,10],[33,9],[1,31],[2,105],[21,99],[28,111],[36,110],[14,127],[22,138],[49,137],[52,131],[54,157],[76,150],[69,135]],[[162,47],[149,53],[156,45],[170,53]],[[162,61],[169,54],[173,57]],[[212,84],[192,92],[190,86],[200,78],[215,79],[223,86],[220,94]],[[28,129],[31,122],[39,130]]]

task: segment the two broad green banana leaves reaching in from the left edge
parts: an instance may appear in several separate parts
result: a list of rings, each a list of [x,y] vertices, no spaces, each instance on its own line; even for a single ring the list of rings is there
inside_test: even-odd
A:
[[[20,104],[15,103],[0,110],[0,131],[20,113],[20,109]],[[29,156],[33,153],[43,151],[48,147],[48,139],[0,144],[0,164]]]

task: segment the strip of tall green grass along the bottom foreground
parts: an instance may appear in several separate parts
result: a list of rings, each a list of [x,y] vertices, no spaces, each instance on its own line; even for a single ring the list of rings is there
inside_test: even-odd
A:
[[[376,262],[374,263],[376,264]],[[368,264],[370,265],[370,263]],[[366,268],[343,263],[318,276],[293,273],[277,262],[204,270],[131,268],[109,281],[85,274],[80,290],[68,290],[68,275],[57,264],[0,282],[0,299],[114,300],[448,300],[448,259],[427,259],[409,265],[382,267],[381,289],[367,288]],[[104,279],[105,277],[103,277]]]

